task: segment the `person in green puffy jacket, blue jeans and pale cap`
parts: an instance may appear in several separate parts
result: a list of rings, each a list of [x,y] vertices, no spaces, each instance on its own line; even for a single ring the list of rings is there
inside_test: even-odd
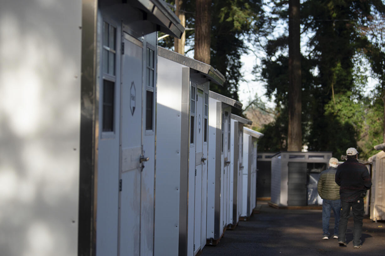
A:
[[[329,169],[322,171],[318,180],[317,190],[322,201],[322,239],[329,239],[329,220],[330,211],[334,213],[334,235],[333,238],[338,238],[338,224],[340,223],[341,200],[340,186],[335,182],[335,175],[338,166],[337,158],[330,158]]]

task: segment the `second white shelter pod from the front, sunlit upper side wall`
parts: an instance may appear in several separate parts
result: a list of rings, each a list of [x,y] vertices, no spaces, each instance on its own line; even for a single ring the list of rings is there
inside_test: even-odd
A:
[[[155,256],[194,256],[206,244],[210,65],[158,47]]]

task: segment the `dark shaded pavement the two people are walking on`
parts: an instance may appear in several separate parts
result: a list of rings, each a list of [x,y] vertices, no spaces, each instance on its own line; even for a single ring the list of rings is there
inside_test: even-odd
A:
[[[337,239],[322,240],[321,210],[276,209],[258,203],[260,213],[249,221],[240,221],[234,230],[227,230],[217,246],[205,246],[202,256],[345,256],[385,255],[385,222],[365,218],[362,248],[353,249],[353,217],[349,218],[346,247]],[[333,234],[334,218],[330,218]]]

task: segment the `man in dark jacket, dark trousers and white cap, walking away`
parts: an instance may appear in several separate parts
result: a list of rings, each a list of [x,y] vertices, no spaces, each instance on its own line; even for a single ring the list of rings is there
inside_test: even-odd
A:
[[[366,191],[372,186],[368,169],[357,161],[358,152],[355,148],[346,150],[347,160],[338,166],[335,181],[340,185],[341,218],[338,232],[338,244],[346,246],[346,228],[350,215],[353,212],[353,248],[361,247],[361,232],[363,219],[363,198]]]

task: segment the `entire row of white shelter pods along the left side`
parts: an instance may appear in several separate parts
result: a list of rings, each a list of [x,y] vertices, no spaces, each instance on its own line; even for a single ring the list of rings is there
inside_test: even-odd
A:
[[[262,134],[219,71],[157,46],[184,32],[163,0],[0,17],[2,254],[194,256],[249,217]]]

